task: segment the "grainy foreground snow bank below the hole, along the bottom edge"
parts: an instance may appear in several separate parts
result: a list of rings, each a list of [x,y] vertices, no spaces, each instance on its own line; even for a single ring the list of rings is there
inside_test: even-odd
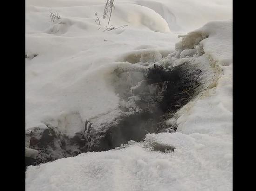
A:
[[[158,141],[174,152],[154,151]],[[26,191],[231,191],[230,147],[201,134],[148,134],[144,143],[29,166]]]

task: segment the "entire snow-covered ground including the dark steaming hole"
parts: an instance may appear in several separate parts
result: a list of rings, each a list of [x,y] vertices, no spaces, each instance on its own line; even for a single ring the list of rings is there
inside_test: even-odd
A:
[[[232,10],[202,2],[107,25],[101,0],[26,0],[26,191],[232,191]]]

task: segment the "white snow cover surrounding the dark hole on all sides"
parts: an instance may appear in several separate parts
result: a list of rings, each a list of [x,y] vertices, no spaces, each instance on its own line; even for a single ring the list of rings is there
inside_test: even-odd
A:
[[[26,191],[232,191],[232,0],[116,0],[109,25],[104,7],[26,0],[26,130],[51,121],[72,136],[87,119],[111,120],[121,104],[114,70],[171,53],[202,67],[205,89],[166,121],[177,132],[29,166]],[[51,22],[51,12],[61,19]],[[190,46],[201,36],[196,56]],[[154,141],[175,150],[152,151]]]

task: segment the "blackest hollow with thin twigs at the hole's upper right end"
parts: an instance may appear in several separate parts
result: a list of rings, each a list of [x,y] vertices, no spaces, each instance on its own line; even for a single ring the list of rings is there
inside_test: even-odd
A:
[[[189,102],[194,96],[195,88],[199,85],[198,77],[201,70],[184,63],[170,69],[162,66],[154,66],[148,71],[147,83],[159,83],[168,81],[159,108],[162,112],[176,112],[177,109]]]

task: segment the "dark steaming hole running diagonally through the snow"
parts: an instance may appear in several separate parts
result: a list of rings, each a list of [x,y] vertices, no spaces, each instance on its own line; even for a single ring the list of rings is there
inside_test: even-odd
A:
[[[87,151],[106,151],[130,140],[142,141],[148,133],[175,131],[175,125],[167,125],[165,121],[199,92],[200,74],[201,70],[184,63],[169,69],[154,66],[146,74],[133,71],[116,75],[116,82],[121,84],[116,86],[116,91],[124,103],[120,109],[125,115],[118,122],[104,126],[101,132],[86,121],[84,131],[71,138],[58,133],[50,124],[34,128],[32,133],[26,134],[29,150],[25,166]],[[159,144],[152,147],[162,152],[174,149]]]

